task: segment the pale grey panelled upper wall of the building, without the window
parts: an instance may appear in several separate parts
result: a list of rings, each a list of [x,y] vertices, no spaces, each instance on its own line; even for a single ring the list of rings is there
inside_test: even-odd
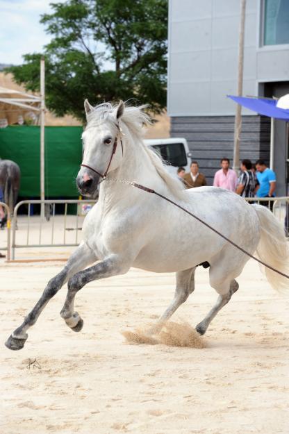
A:
[[[237,90],[240,0],[170,0],[169,6],[168,115],[234,115],[236,104],[226,95]],[[262,0],[247,0],[244,95],[289,76],[288,45],[262,46],[262,11]]]

